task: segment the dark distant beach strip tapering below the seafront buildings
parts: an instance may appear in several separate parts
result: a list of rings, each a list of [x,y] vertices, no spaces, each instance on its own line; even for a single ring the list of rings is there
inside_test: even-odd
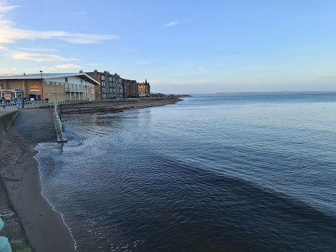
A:
[[[102,115],[106,113],[118,113],[128,109],[144,109],[153,106],[165,106],[174,104],[181,99],[141,99],[139,102],[97,102],[89,104],[74,104],[62,106],[62,116],[76,116],[81,114]]]

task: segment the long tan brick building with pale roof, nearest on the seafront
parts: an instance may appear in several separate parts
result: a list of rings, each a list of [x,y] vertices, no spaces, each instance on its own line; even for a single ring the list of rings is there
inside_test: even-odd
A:
[[[1,97],[58,101],[95,99],[99,83],[85,73],[36,73],[0,76],[0,85]]]

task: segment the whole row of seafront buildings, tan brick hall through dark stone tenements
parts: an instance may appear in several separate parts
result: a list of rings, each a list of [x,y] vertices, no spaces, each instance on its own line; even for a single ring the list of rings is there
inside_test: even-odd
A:
[[[151,88],[147,80],[120,78],[109,71],[83,73],[43,73],[0,76],[0,96],[30,100],[78,100],[127,97],[150,97]]]

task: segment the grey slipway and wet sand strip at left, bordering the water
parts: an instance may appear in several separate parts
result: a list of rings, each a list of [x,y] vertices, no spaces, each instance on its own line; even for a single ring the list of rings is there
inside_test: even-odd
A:
[[[22,109],[1,141],[0,174],[6,185],[0,186],[0,214],[5,221],[1,235],[13,247],[18,244],[13,251],[75,251],[61,216],[41,196],[34,159],[37,144],[56,141],[51,109]]]

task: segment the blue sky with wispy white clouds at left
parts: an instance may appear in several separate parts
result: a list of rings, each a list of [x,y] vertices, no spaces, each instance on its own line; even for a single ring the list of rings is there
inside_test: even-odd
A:
[[[0,76],[110,71],[151,92],[336,91],[335,0],[0,0]]]

